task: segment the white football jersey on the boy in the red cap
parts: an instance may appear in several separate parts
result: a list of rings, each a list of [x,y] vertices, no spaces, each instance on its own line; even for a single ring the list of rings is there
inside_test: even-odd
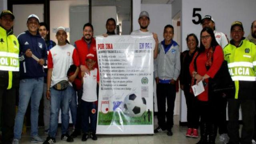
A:
[[[98,69],[94,68],[89,74],[85,72],[83,80],[82,100],[86,102],[95,102],[97,100],[97,82],[99,81]]]

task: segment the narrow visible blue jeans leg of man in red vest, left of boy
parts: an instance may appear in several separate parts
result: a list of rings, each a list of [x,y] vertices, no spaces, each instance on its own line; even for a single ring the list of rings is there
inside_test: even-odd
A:
[[[70,113],[72,117],[73,125],[76,125],[76,109],[77,109],[77,100],[76,100],[76,90],[72,88],[72,99],[69,103]]]

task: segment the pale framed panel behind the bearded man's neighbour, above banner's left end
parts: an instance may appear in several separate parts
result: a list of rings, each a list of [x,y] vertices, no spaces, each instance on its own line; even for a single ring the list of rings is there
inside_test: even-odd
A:
[[[106,34],[106,21],[108,18],[116,20],[116,6],[92,6],[94,36]]]

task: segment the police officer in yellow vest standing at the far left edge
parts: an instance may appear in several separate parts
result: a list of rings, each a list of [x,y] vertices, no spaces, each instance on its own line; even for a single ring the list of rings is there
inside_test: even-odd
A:
[[[2,143],[11,144],[15,118],[16,88],[19,86],[19,43],[12,26],[14,15],[9,10],[0,14],[0,113]]]

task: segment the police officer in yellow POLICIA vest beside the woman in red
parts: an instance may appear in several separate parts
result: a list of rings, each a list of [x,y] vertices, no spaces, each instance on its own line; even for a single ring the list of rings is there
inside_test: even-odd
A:
[[[235,96],[228,99],[228,136],[230,144],[239,144],[239,108],[242,109],[242,134],[240,143],[250,144],[254,132],[256,46],[244,38],[242,22],[233,22],[230,44],[224,48],[224,58],[235,82]]]

